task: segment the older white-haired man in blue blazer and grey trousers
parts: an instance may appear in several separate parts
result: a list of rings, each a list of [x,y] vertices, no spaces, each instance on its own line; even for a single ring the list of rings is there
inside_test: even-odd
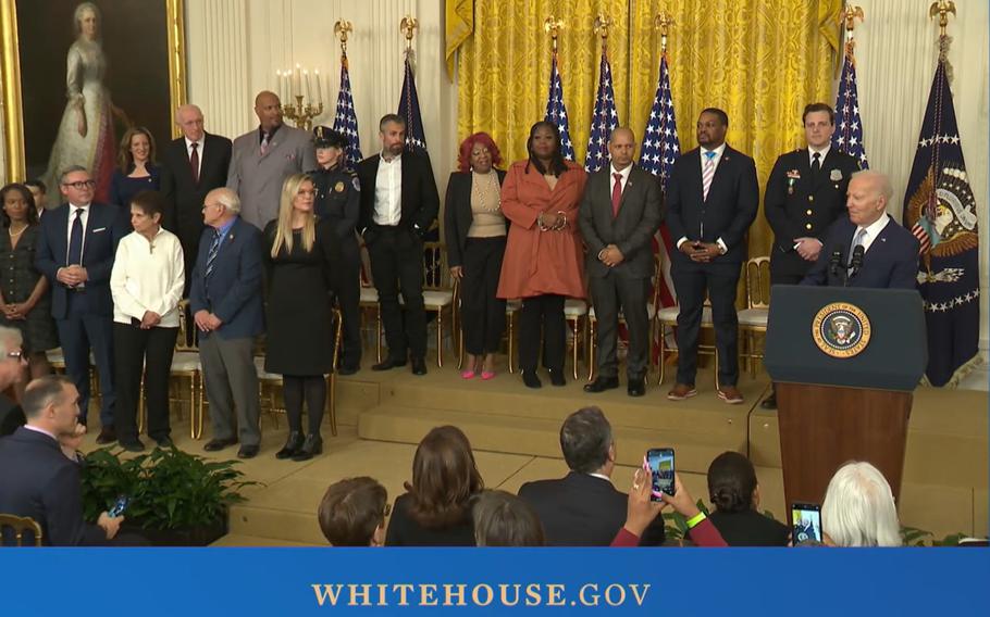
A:
[[[213,429],[203,450],[223,450],[239,439],[237,456],[252,458],[261,443],[252,353],[255,338],[264,330],[261,231],[240,218],[240,200],[227,188],[207,193],[202,218],[207,229],[193,268],[189,307],[199,330]]]

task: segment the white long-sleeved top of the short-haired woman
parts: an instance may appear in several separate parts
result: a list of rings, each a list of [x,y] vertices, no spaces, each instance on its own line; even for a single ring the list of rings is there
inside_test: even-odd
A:
[[[159,228],[150,242],[132,231],[116,248],[110,272],[113,320],[131,324],[145,312],[161,315],[161,328],[178,327],[178,302],[185,286],[185,260],[175,234]]]

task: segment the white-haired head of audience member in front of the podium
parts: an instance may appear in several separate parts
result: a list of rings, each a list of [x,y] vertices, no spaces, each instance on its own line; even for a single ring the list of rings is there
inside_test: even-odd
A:
[[[821,529],[830,546],[900,546],[898,508],[883,474],[869,463],[840,467],[825,492]]]

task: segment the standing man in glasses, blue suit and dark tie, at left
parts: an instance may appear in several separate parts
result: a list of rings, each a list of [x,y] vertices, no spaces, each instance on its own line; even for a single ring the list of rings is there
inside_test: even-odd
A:
[[[96,182],[85,167],[62,173],[59,190],[67,203],[41,219],[35,266],[51,285],[51,315],[59,328],[65,373],[79,391],[81,421],[89,410],[89,354],[100,375],[97,443],[116,440],[113,430],[113,300],[110,270],[121,238],[131,229],[123,210],[94,203]]]

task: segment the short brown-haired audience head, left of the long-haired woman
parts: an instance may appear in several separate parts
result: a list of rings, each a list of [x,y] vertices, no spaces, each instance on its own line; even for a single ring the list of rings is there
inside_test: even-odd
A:
[[[388,492],[374,478],[334,482],[323,494],[317,518],[334,546],[383,546]]]

